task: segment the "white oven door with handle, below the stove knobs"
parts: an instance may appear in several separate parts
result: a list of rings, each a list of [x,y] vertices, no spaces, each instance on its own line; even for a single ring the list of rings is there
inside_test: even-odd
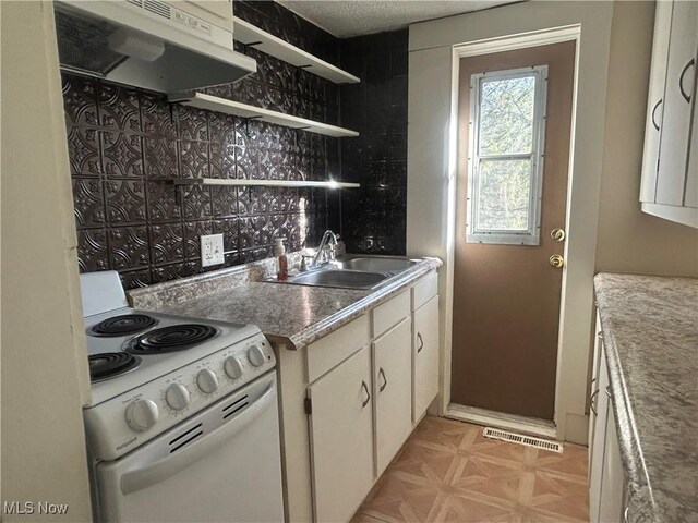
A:
[[[276,373],[97,465],[106,522],[282,522]]]

